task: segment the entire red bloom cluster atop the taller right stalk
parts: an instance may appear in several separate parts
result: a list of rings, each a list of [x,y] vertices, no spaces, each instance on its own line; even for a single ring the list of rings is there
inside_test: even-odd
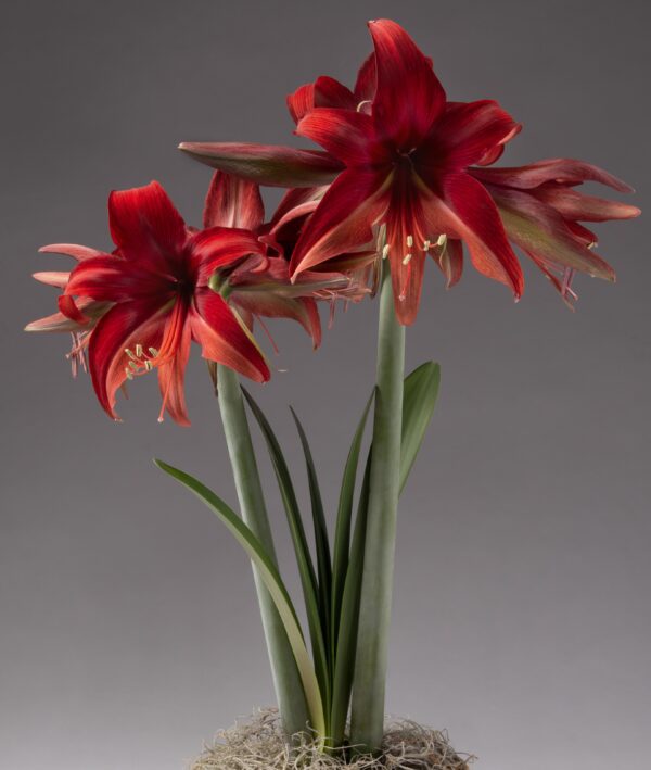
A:
[[[370,22],[374,52],[349,90],[330,77],[288,98],[296,134],[326,152],[243,143],[183,143],[195,160],[260,184],[320,187],[320,203],[292,252],[291,273],[328,268],[385,227],[396,313],[418,312],[426,255],[456,283],[463,244],[476,269],[524,286],[512,245],[521,248],[561,294],[574,270],[612,279],[579,222],[627,218],[639,210],[582,195],[582,181],[618,191],[623,182],[588,164],[542,161],[523,169],[488,168],[521,126],[495,101],[447,101],[430,59],[394,22]],[[589,240],[587,240],[589,238]]]

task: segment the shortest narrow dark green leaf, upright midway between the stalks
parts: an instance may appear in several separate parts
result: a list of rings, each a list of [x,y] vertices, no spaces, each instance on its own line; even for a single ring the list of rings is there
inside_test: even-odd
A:
[[[296,430],[301,439],[301,446],[305,456],[305,466],[307,469],[307,480],[309,484],[309,497],[311,503],[312,523],[315,530],[315,544],[317,548],[317,569],[319,573],[319,613],[321,615],[321,628],[326,641],[330,639],[331,624],[331,595],[332,595],[332,563],[330,560],[330,545],[328,542],[328,525],[326,523],[326,514],[323,513],[323,500],[319,489],[319,480],[317,470],[309,447],[309,442],[298,416],[290,406],[292,417],[296,424]],[[332,656],[327,646],[328,654],[328,670],[332,671]]]

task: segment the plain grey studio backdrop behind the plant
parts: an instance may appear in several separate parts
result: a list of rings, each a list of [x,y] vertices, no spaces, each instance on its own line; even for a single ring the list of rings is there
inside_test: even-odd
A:
[[[152,178],[197,224],[209,173],[178,141],[292,141],[285,93],[322,73],[350,83],[370,50],[365,22],[382,15],[435,58],[451,98],[498,98],[524,123],[502,163],[583,157],[649,205],[641,1],[5,8],[3,769],[180,768],[272,702],[245,557],[151,465],[161,456],[234,497],[199,356],[191,430],[157,425],[153,378],[118,426],[87,378],[71,380],[67,338],[21,328],[54,307],[29,274],[67,264],[39,245],[107,248],[108,190]],[[529,265],[519,305],[470,268],[446,293],[431,268],[408,334],[409,364],[441,361],[443,388],[401,507],[388,708],[447,727],[486,770],[646,763],[646,226],[600,228],[620,281],[579,279],[575,314]],[[275,365],[289,371],[256,390],[296,464],[284,405],[298,409],[331,490],[372,381],[375,310],[340,315],[316,355],[298,328],[275,325]],[[270,507],[295,588],[275,494]]]

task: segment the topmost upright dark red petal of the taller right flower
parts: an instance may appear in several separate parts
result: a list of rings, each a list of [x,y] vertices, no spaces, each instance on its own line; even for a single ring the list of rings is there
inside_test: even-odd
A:
[[[373,118],[403,150],[418,146],[445,108],[445,91],[431,63],[395,22],[370,22],[378,89]]]

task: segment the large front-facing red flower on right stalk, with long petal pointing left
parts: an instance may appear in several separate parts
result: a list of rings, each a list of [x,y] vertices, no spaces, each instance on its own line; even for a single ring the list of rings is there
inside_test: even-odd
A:
[[[296,134],[321,144],[343,167],[296,245],[293,275],[368,243],[373,227],[384,224],[396,312],[404,324],[416,317],[425,256],[443,235],[463,240],[475,267],[519,296],[520,265],[495,203],[468,167],[494,162],[520,126],[494,101],[447,102],[431,61],[400,26],[386,20],[369,26],[374,56],[362,67],[355,92],[347,96],[341,84],[320,78],[290,98]],[[326,103],[331,106],[321,106]],[[276,153],[280,162],[292,152],[265,147],[261,164],[263,151],[251,146],[181,149],[216,167],[228,163],[231,171],[275,184],[282,184],[288,168],[275,176],[268,159]],[[291,165],[292,185],[314,178],[314,160],[302,164],[292,154]],[[296,181],[298,167],[302,181]]]

